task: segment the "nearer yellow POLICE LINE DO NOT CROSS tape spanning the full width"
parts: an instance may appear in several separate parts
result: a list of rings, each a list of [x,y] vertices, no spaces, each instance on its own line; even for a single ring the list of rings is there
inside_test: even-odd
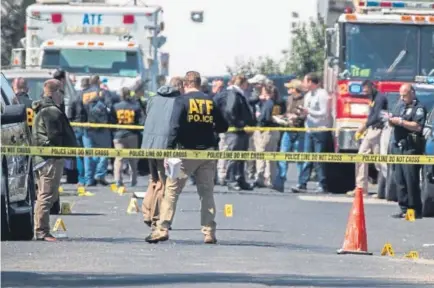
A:
[[[271,160],[293,162],[434,164],[434,156],[426,155],[360,155],[338,153],[282,153],[212,150],[143,150],[71,147],[2,146],[3,155],[63,156],[63,157],[122,157],[122,158],[181,158],[196,160]]]

